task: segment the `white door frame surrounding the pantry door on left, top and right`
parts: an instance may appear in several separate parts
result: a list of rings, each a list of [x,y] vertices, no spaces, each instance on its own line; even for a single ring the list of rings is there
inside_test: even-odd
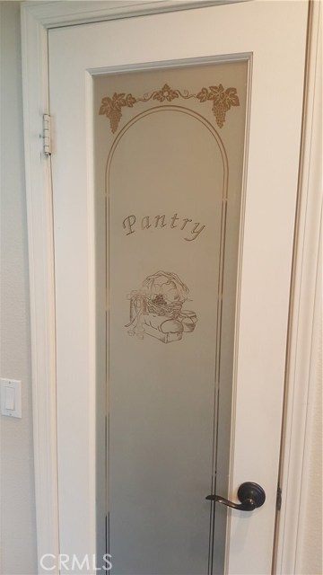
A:
[[[42,114],[48,112],[48,29],[135,14],[223,4],[214,0],[22,3],[22,81],[31,277],[31,353],[38,558],[59,554],[55,277],[50,161],[43,152]],[[311,332],[321,222],[321,3],[310,3],[298,206],[295,220],[289,338],[286,353],[282,509],[276,529],[275,573],[295,572],[297,526],[310,390]],[[316,81],[317,80],[317,81]],[[94,473],[94,472],[93,472]],[[46,572],[39,568],[39,572]]]

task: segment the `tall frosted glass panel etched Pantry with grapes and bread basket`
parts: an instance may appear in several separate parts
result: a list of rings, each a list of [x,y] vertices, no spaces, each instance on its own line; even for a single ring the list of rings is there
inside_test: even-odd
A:
[[[116,575],[223,572],[205,496],[229,473],[247,73],[94,77],[98,544]]]

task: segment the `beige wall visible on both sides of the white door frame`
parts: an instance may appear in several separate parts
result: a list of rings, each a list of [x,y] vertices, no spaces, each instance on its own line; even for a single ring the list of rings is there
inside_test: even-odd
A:
[[[22,145],[20,2],[0,2],[1,16],[1,322],[0,376],[22,379],[22,420],[0,418],[0,572],[36,574],[36,526],[31,416],[31,340],[27,218]],[[321,272],[320,272],[321,273]],[[320,277],[320,274],[319,274]],[[321,340],[317,328],[309,396],[299,526],[298,570],[321,575]],[[320,504],[321,505],[321,504]]]

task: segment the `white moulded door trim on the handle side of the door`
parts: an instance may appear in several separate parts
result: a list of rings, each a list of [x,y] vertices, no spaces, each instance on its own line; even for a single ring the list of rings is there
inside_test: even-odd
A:
[[[318,359],[313,348],[317,305],[320,305],[321,314],[318,289],[322,217],[322,3],[310,0],[309,8],[278,477],[282,507],[276,513],[273,554],[273,573],[282,575],[300,572],[299,527],[304,512],[304,475],[309,473],[306,447],[310,429],[310,396],[316,385],[312,361]]]

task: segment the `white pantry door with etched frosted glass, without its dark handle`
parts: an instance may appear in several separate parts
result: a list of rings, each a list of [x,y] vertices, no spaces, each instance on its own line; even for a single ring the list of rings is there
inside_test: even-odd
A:
[[[48,31],[60,550],[116,575],[271,570],[307,11]]]

